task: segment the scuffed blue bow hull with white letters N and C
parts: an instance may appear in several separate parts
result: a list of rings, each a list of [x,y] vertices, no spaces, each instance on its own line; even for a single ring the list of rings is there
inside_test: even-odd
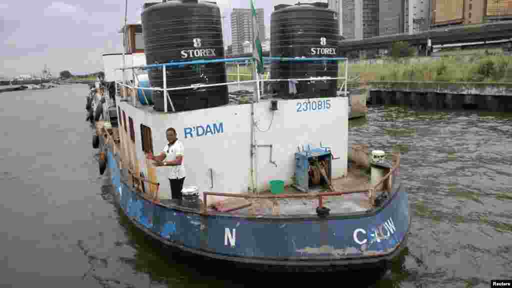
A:
[[[345,266],[391,260],[406,245],[411,218],[407,192],[399,183],[381,208],[367,214],[203,216],[144,199],[122,179],[111,151],[107,154],[114,198],[123,214],[144,233],[184,251],[250,264]]]

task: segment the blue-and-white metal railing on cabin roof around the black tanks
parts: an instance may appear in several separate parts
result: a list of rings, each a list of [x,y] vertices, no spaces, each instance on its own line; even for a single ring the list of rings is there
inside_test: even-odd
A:
[[[306,58],[306,57],[296,57],[296,58],[287,58],[287,57],[263,57],[263,61],[266,61],[267,63],[269,61],[295,61],[295,62],[307,62],[307,61],[324,61],[324,62],[327,62],[327,61],[339,61],[339,60],[343,60],[345,61],[345,77],[309,77],[309,78],[296,78],[296,79],[293,79],[293,80],[296,80],[296,81],[317,81],[317,80],[323,80],[323,81],[327,81],[327,80],[338,80],[338,79],[343,79],[345,80],[344,81],[344,86],[342,86],[342,88],[344,88],[345,90],[345,96],[348,95],[348,91],[347,91],[347,80],[348,80],[348,58],[345,58],[345,57],[310,57],[310,58]],[[183,90],[183,89],[198,89],[198,88],[206,88],[206,87],[216,87],[216,86],[227,86],[227,85],[234,85],[234,84],[237,84],[240,86],[240,84],[251,84],[251,83],[256,83],[257,86],[258,86],[258,95],[259,95],[259,90],[260,90],[260,83],[262,81],[288,81],[290,79],[288,78],[285,78],[285,79],[259,79],[259,74],[255,74],[257,79],[253,79],[253,80],[245,80],[245,81],[236,81],[236,82],[228,82],[226,81],[226,83],[216,83],[216,84],[194,84],[194,85],[189,85],[189,86],[182,86],[182,87],[173,87],[173,88],[167,88],[167,77],[166,76],[166,69],[167,67],[179,67],[179,66],[184,66],[184,65],[197,65],[197,64],[210,64],[210,63],[237,63],[237,62],[247,62],[247,61],[251,61],[252,63],[254,63],[254,58],[252,57],[241,57],[241,58],[222,58],[222,59],[209,59],[209,60],[193,60],[193,61],[177,61],[177,62],[170,62],[170,63],[166,63],[166,64],[152,64],[152,65],[144,65],[144,66],[133,66],[133,67],[127,67],[127,68],[120,68],[120,69],[116,69],[116,70],[121,70],[121,71],[124,71],[124,70],[136,70],[136,69],[142,69],[142,70],[152,70],[152,69],[159,69],[161,68],[162,69],[162,79],[163,79],[163,87],[160,88],[153,88],[153,87],[139,87],[139,86],[135,86],[135,85],[127,85],[125,83],[122,83],[121,81],[116,81],[116,84],[119,84],[123,87],[126,87],[126,88],[129,88],[129,89],[132,89],[132,90],[135,90],[134,93],[133,93],[133,104],[135,104],[135,96],[136,96],[136,91],[141,89],[141,90],[153,90],[153,91],[163,91],[163,93],[165,93],[165,98],[169,101],[170,103],[170,106],[171,106],[171,109],[173,112],[176,112],[175,110],[175,107],[174,107],[174,104],[173,104],[173,101],[172,101],[172,98],[170,97],[169,95],[169,91],[174,91],[174,90]],[[253,65],[254,67],[254,65]],[[135,75],[135,73],[133,73]],[[240,79],[240,77],[239,77]],[[135,79],[134,79],[134,83],[135,83]],[[257,98],[257,101],[259,101],[259,96]],[[164,102],[164,113],[167,113],[168,112],[168,108],[167,108],[167,101],[163,101]]]

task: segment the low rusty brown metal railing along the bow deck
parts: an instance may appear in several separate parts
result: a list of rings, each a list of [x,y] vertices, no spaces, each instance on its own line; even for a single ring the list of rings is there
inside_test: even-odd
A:
[[[400,153],[393,153],[395,162],[390,171],[382,177],[376,184],[371,186],[369,189],[352,189],[345,191],[335,192],[320,192],[320,193],[297,193],[297,194],[280,194],[280,195],[249,195],[249,194],[234,194],[234,193],[218,193],[218,192],[203,192],[203,208],[201,214],[208,215],[208,204],[207,196],[223,196],[223,197],[235,197],[235,198],[246,198],[246,199],[283,199],[283,198],[316,198],[318,197],[318,207],[323,207],[323,197],[327,196],[342,196],[346,194],[355,193],[368,193],[370,203],[375,205],[375,192],[381,184],[384,184],[385,192],[388,196],[391,196],[391,189],[393,187],[393,176],[398,176],[400,168]]]

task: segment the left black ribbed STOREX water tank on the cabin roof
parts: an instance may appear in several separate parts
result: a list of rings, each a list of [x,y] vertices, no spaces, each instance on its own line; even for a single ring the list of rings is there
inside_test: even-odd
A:
[[[219,6],[197,0],[168,1],[142,11],[146,64],[224,58]],[[224,63],[167,67],[167,88],[226,82]],[[162,70],[148,73],[152,87],[163,87]],[[169,91],[176,111],[226,105],[227,86]],[[161,91],[153,94],[154,109],[164,111]],[[167,110],[172,111],[167,101]]]

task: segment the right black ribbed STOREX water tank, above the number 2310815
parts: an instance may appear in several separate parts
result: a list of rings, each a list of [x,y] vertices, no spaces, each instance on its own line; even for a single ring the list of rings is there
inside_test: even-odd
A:
[[[337,57],[338,13],[323,7],[297,4],[272,12],[270,20],[271,57]],[[272,61],[272,79],[337,77],[338,63]],[[274,82],[280,98],[335,97],[337,80],[298,81],[290,94],[288,81]]]

